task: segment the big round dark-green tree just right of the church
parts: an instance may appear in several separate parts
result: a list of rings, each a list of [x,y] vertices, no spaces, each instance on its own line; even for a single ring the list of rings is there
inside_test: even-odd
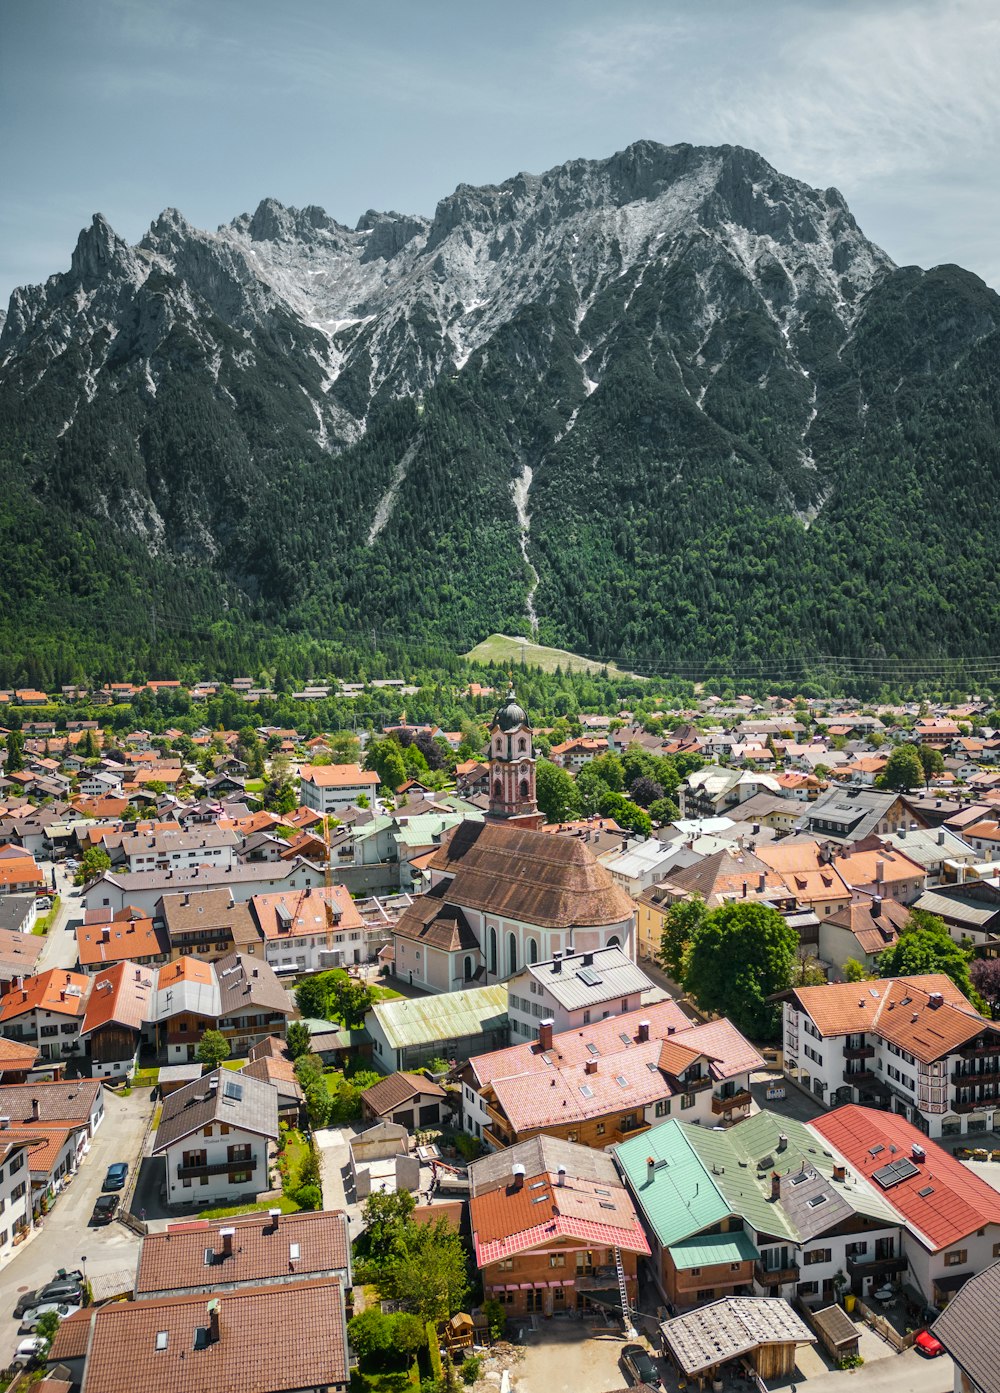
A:
[[[798,935],[777,910],[752,901],[720,905],[695,929],[684,989],[752,1039],[773,1039],[780,1013],[767,997],[791,985],[797,950]]]

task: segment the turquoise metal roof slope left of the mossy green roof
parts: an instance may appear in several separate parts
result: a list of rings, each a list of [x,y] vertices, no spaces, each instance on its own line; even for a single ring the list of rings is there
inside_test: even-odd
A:
[[[731,1212],[691,1146],[688,1130],[671,1117],[614,1149],[618,1169],[664,1247],[721,1223]],[[650,1156],[657,1163],[652,1172]]]

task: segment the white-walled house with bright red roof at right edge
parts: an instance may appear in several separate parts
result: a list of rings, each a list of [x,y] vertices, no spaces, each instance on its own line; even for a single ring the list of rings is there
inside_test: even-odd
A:
[[[896,1113],[847,1106],[809,1130],[851,1178],[877,1185],[903,1226],[903,1280],[943,1307],[1000,1256],[1000,1194]]]

